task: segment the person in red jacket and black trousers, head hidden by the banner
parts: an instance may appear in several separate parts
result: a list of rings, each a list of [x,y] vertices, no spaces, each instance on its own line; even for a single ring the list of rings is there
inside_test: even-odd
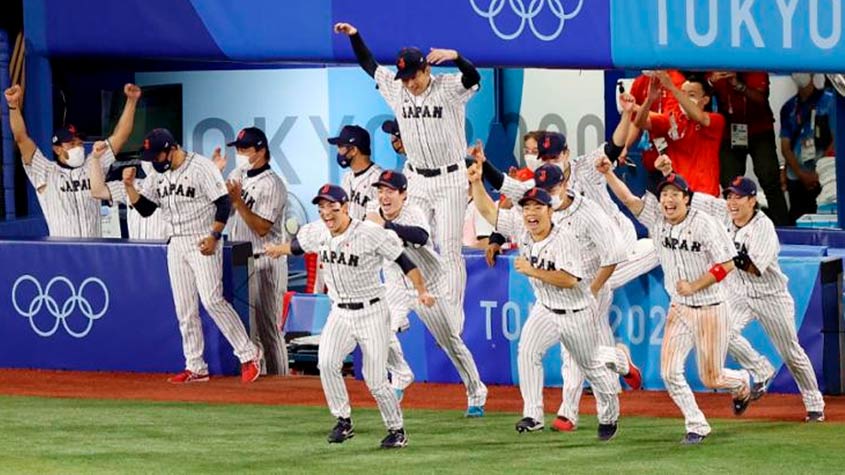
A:
[[[727,122],[719,156],[722,188],[728,188],[734,177],[745,176],[745,164],[751,155],[754,174],[766,193],[766,214],[776,226],[786,225],[789,219],[780,187],[775,116],[769,105],[769,74],[713,72],[709,80],[719,112]]]

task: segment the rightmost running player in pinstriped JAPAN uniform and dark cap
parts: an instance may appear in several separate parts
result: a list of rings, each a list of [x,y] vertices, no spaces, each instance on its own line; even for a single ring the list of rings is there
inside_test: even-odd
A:
[[[671,160],[665,155],[657,159],[656,166],[667,175],[672,171]],[[721,220],[737,251],[734,257],[737,271],[726,280],[733,322],[728,353],[753,376],[754,397],[762,396],[775,369],[742,336],[748,322],[759,319],[798,384],[807,410],[805,421],[822,422],[824,399],[810,358],[798,343],[795,302],[777,261],[780,243],[774,223],[759,212],[757,185],[750,179],[736,177],[724,195],[726,199],[722,200],[695,193],[692,208]]]

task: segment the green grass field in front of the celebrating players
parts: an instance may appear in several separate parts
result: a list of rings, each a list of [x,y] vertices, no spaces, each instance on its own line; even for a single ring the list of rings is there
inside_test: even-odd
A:
[[[325,441],[324,408],[0,397],[2,473],[841,473],[845,425],[713,420],[698,447],[678,444],[679,419],[623,418],[595,440],[595,417],[575,433],[517,434],[517,414],[467,420],[409,410],[410,444],[384,451],[374,410],[353,413],[356,437]]]

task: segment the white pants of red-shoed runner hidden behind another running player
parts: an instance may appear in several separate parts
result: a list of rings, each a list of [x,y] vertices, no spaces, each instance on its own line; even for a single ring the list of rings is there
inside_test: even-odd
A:
[[[601,345],[597,357],[605,363],[608,360],[612,360],[613,371],[625,376],[630,371],[630,367],[628,366],[628,358],[625,353],[614,346],[615,339],[609,321],[610,304],[612,303],[613,292],[607,286],[604,286],[596,296],[596,326],[599,332],[598,344]],[[566,351],[564,345],[561,345],[561,355],[563,356],[561,367],[561,373],[563,374],[563,388],[561,390],[563,399],[557,415],[563,416],[573,424],[578,425],[578,409],[581,402],[581,395],[584,392],[584,371],[575,363],[572,354]],[[616,387],[617,391],[621,390],[619,378],[616,378]]]

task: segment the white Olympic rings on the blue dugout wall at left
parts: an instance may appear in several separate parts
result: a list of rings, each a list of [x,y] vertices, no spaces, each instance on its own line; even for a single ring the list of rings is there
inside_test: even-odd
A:
[[[35,286],[35,297],[28,305],[22,306],[21,302],[18,301],[18,291],[21,285],[25,282],[30,282]],[[70,291],[70,297],[68,297],[61,305],[59,305],[50,293],[53,288],[57,287],[59,284],[63,284]],[[100,288],[103,296],[103,308],[99,309],[99,311],[95,312],[91,303],[87,298],[85,298],[85,289],[89,286]],[[12,305],[15,307],[15,310],[20,316],[29,319],[29,326],[32,327],[32,330],[38,336],[44,338],[53,336],[53,334],[55,334],[59,329],[59,325],[62,325],[70,336],[74,338],[84,338],[91,332],[91,328],[94,326],[94,320],[98,320],[106,314],[106,311],[109,308],[109,290],[106,287],[106,284],[96,277],[89,277],[83,280],[82,284],[79,286],[79,290],[77,291],[70,279],[64,276],[53,277],[50,279],[50,282],[47,283],[47,286],[42,289],[41,283],[38,279],[31,275],[22,275],[18,277],[18,280],[16,280],[15,284],[12,286]],[[35,322],[35,317],[39,314],[39,312],[41,312],[42,308],[45,308],[55,319],[52,328],[48,328],[47,330],[41,329]],[[67,322],[68,317],[70,317],[77,308],[79,309],[79,313],[88,320],[87,325],[81,331],[74,330]]]

